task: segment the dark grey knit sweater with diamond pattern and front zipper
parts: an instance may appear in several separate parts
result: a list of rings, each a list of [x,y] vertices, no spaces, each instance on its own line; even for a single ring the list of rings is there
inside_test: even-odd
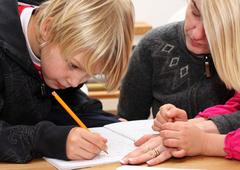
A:
[[[154,29],[134,49],[121,85],[121,117],[146,119],[150,109],[155,116],[161,105],[172,103],[193,118],[234,94],[219,79],[210,55],[195,56],[187,50],[183,24]],[[210,66],[209,78],[205,62]]]

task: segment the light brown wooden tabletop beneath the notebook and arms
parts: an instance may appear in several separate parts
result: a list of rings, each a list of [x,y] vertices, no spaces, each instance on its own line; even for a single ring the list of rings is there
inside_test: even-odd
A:
[[[84,170],[114,170],[119,163],[85,168]],[[187,157],[183,159],[170,159],[157,167],[165,168],[193,168],[205,170],[239,170],[240,162],[227,160],[219,157]],[[35,160],[28,164],[7,164],[0,163],[1,170],[55,170],[55,168],[44,160]]]

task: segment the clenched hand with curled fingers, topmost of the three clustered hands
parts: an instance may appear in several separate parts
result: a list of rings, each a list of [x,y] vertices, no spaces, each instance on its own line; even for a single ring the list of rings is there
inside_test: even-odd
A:
[[[172,104],[165,104],[160,107],[152,128],[155,131],[160,131],[164,123],[175,121],[187,121],[187,113]]]

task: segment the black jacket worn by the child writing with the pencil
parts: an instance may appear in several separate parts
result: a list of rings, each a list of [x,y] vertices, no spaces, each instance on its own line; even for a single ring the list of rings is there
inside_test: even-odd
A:
[[[42,156],[66,159],[72,118],[51,96],[35,69],[16,0],[0,1],[0,161],[23,163]],[[117,122],[79,88],[57,91],[89,126]]]

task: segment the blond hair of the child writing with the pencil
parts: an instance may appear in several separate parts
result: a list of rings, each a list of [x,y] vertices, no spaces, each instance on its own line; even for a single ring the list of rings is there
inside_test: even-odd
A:
[[[94,75],[100,68],[106,87],[116,89],[133,41],[131,0],[48,0],[37,10],[38,29],[47,17],[51,17],[48,43],[57,44],[65,57],[83,52],[87,73]]]

